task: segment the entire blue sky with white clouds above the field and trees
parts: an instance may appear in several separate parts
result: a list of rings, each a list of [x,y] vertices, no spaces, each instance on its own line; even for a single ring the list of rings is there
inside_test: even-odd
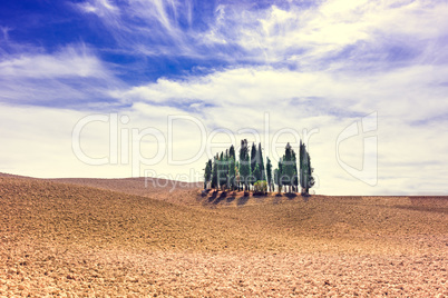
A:
[[[0,172],[197,181],[306,143],[315,193],[448,195],[446,1],[3,0]]]

